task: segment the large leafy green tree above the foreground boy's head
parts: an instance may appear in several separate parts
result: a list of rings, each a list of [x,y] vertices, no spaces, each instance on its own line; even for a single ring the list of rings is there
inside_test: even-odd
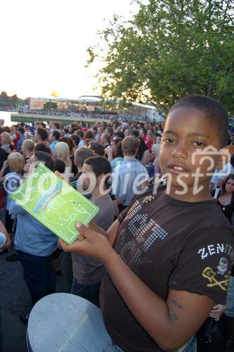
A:
[[[115,16],[99,33],[104,96],[148,101],[161,113],[186,94],[212,96],[234,113],[234,1],[136,1],[133,20]],[[101,49],[103,49],[101,51]]]

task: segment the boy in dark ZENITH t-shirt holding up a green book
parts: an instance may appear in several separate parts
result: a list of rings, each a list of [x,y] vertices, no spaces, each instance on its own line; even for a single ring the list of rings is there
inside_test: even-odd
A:
[[[233,263],[230,223],[209,194],[225,146],[228,117],[205,96],[188,96],[169,111],[160,168],[167,186],[136,196],[105,234],[77,224],[86,237],[67,246],[96,258],[108,274],[100,291],[105,327],[124,351],[173,351],[185,345],[214,303],[226,303]],[[203,158],[203,159],[202,159]],[[197,180],[197,172],[199,174]],[[196,184],[197,182],[197,184]],[[99,232],[99,235],[98,233]],[[115,249],[112,248],[114,243]],[[187,346],[184,351],[196,351]]]

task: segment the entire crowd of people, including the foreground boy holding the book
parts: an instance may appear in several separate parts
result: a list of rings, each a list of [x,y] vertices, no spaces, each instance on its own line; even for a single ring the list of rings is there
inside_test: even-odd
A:
[[[6,260],[20,260],[32,307],[56,291],[63,256],[70,292],[101,308],[119,351],[184,345],[183,351],[193,352],[208,316],[218,321],[226,311],[233,324],[233,158],[213,177],[206,163],[191,162],[206,146],[219,151],[233,144],[219,103],[188,96],[163,124],[1,123],[0,136],[0,253],[14,246]],[[11,201],[39,163],[99,208],[89,227],[77,224],[81,236],[70,246]],[[198,167],[202,190],[195,194]],[[29,315],[20,316],[23,323]]]

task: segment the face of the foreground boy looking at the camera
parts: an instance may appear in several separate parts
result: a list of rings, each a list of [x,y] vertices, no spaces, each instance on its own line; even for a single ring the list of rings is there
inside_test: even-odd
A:
[[[218,150],[221,148],[214,127],[204,118],[202,111],[195,108],[176,108],[171,111],[162,135],[160,167],[164,175],[169,174],[171,177],[172,187],[181,189],[181,180],[187,185],[188,193],[193,194],[195,174],[198,171],[200,173],[198,185],[207,189],[211,178],[207,175],[207,169],[210,168],[211,161],[204,158],[207,153],[203,155],[201,153],[207,146],[213,146]],[[219,153],[211,157],[215,168]],[[209,169],[209,174],[214,168]]]

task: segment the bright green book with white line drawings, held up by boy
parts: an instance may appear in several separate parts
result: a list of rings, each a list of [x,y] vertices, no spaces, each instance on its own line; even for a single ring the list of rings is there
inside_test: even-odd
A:
[[[11,194],[11,199],[67,244],[79,236],[74,223],[87,225],[99,210],[42,163]]]

